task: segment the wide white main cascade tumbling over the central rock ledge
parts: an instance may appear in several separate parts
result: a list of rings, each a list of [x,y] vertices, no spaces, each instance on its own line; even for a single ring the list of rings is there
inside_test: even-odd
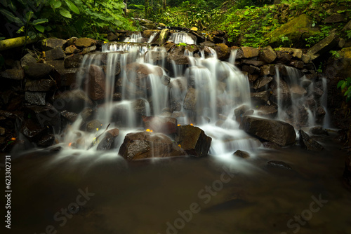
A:
[[[79,86],[89,95],[88,83],[93,77],[87,71],[105,72],[105,94],[96,101],[95,113],[95,120],[101,125],[96,132],[81,131],[84,120],[79,116],[61,141],[65,146],[72,146],[73,142],[78,149],[94,151],[92,142],[107,125],[121,130],[121,138],[142,128],[141,116],[161,116],[165,109],[171,109],[178,123],[194,123],[213,138],[210,153],[232,154],[236,149],[252,152],[260,143],[239,130],[239,123],[234,120],[235,108],[242,104],[251,106],[248,78],[234,62],[221,62],[216,51],[206,50],[210,51],[206,58],[203,51],[199,56],[186,52],[192,64],[170,78],[164,69],[171,67],[164,48],[105,43],[102,53],[84,57],[82,69],[86,72],[77,76]],[[188,100],[193,106],[186,103],[190,92],[195,93],[194,99]],[[119,139],[116,147],[121,142]]]

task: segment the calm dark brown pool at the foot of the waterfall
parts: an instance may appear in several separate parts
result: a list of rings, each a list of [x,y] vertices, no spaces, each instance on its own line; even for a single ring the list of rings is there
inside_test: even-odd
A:
[[[126,163],[115,152],[29,153],[12,162],[11,231],[350,233],[351,193],[341,177],[345,155],[326,142],[323,153],[291,146],[257,149],[248,159]],[[267,167],[269,160],[293,170]]]

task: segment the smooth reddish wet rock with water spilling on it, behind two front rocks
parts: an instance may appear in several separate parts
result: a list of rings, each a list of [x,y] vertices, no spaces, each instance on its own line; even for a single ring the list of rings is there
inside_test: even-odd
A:
[[[176,118],[145,116],[143,117],[145,128],[154,132],[161,132],[165,135],[176,134],[178,131],[178,122]]]

